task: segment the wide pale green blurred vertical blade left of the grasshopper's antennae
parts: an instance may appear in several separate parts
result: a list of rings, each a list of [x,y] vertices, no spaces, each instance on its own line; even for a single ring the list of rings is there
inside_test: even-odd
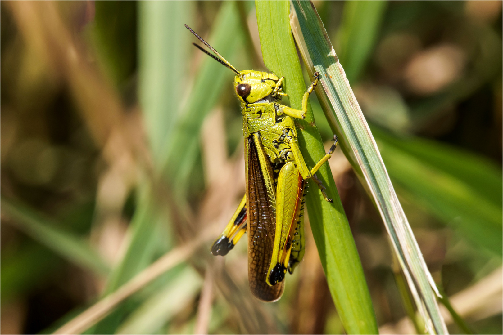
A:
[[[139,96],[152,158],[160,170],[188,93],[194,46],[184,24],[192,24],[196,8],[190,1],[152,1],[138,7]]]

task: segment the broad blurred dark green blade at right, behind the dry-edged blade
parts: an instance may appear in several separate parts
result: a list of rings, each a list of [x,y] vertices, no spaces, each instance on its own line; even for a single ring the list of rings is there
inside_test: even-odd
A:
[[[472,155],[463,155],[454,149],[449,151],[431,141],[402,140],[399,146],[395,146],[391,143],[397,139],[391,138],[393,142],[390,143],[383,141],[384,138],[390,137],[378,137],[383,160],[391,179],[403,189],[404,195],[428,209],[468,241],[501,255],[503,212],[501,205],[489,200],[493,188],[499,187],[501,191],[500,174],[491,174],[490,169],[479,170],[485,164],[466,159]],[[406,151],[409,147],[411,151],[418,149],[416,145],[420,143],[421,150],[430,149],[426,154],[432,156],[430,160]],[[438,150],[439,146],[441,150]],[[472,179],[481,184],[483,181],[495,184],[487,185],[487,190],[480,190],[472,187]]]

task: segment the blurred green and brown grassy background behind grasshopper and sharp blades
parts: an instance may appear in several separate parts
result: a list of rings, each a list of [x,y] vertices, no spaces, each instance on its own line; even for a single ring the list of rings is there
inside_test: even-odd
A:
[[[501,2],[314,4],[434,279],[473,331],[501,333]],[[208,252],[244,192],[241,114],[183,25],[265,69],[254,6],[0,4],[2,333],[54,331],[207,228],[87,333],[344,332],[309,227],[276,303],[250,297],[245,243]],[[340,150],[330,167],[380,331],[414,331],[378,212]]]

